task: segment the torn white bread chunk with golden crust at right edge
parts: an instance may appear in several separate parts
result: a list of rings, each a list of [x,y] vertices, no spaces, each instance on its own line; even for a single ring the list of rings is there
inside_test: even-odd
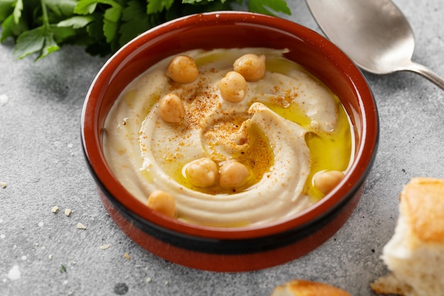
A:
[[[444,295],[444,180],[413,178],[399,198],[395,233],[381,257],[391,274],[372,283],[372,290]]]

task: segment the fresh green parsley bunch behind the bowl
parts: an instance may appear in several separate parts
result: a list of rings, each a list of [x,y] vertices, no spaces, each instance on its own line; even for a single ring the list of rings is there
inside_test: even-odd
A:
[[[291,14],[285,0],[245,0],[248,10]],[[0,42],[15,41],[14,57],[36,60],[63,44],[91,55],[113,53],[140,33],[180,16],[233,10],[244,0],[0,0]]]

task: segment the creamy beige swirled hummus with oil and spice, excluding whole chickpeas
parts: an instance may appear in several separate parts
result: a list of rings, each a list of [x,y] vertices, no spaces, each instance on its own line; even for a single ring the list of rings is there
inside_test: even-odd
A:
[[[265,55],[262,79],[246,82],[245,97],[228,102],[218,84],[245,54]],[[322,198],[319,172],[345,172],[353,155],[350,121],[339,99],[283,50],[192,50],[199,75],[176,83],[165,75],[172,57],[150,67],[122,92],[104,126],[106,160],[140,202],[163,190],[177,218],[209,226],[263,224],[292,216]],[[184,116],[162,120],[159,101],[176,94]],[[249,176],[235,188],[199,187],[187,166],[210,158],[237,160]]]

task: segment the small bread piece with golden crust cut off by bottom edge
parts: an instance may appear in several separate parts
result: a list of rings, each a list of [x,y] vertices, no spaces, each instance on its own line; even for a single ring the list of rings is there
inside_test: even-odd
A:
[[[338,287],[309,280],[291,280],[274,288],[271,296],[351,296]]]

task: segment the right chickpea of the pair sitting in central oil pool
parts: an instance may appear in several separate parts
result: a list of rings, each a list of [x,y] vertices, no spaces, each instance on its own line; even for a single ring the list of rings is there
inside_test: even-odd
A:
[[[245,184],[250,171],[236,160],[228,160],[221,165],[219,185],[223,188],[236,188]]]

